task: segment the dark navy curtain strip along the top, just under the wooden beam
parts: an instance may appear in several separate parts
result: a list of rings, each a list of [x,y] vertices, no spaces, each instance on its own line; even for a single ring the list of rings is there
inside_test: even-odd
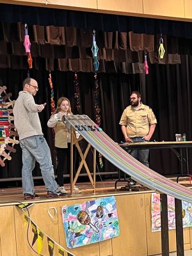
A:
[[[21,22],[42,26],[67,26],[96,31],[119,31],[192,38],[191,22],[147,19],[72,10],[0,4],[0,22]]]

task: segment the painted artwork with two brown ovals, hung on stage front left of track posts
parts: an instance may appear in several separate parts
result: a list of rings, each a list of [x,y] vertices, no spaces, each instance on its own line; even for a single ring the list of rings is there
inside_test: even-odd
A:
[[[115,196],[64,205],[61,214],[68,248],[98,243],[120,234]]]

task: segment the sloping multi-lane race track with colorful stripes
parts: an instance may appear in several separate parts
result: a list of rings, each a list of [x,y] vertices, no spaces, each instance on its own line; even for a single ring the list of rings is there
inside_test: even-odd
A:
[[[83,138],[88,141],[102,156],[108,161],[118,167],[122,172],[130,175],[132,179],[147,188],[159,191],[166,195],[171,195],[180,200],[192,203],[192,191],[189,188],[173,182],[154,172],[147,166],[141,164],[139,161],[130,156],[124,149],[118,146],[115,141],[111,140],[104,131],[79,131],[76,125],[97,125],[86,115],[67,116],[65,118],[76,131],[78,131]]]

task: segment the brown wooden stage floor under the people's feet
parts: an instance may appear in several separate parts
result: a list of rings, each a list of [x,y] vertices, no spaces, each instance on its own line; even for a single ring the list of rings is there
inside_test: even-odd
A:
[[[177,177],[172,177],[172,180],[176,181]],[[190,184],[190,180],[188,177],[180,177],[180,184],[184,186],[188,186],[189,188],[192,187]],[[38,200],[24,200],[24,196],[22,194],[22,188],[1,188],[0,189],[0,205],[15,205],[18,202],[50,202],[50,201],[58,201],[58,200],[72,200],[72,199],[79,199],[79,198],[92,198],[95,196],[108,196],[108,195],[124,195],[124,194],[135,194],[135,193],[147,193],[150,189],[140,189],[139,191],[129,191],[121,190],[121,188],[127,185],[127,182],[120,181],[117,184],[117,189],[115,189],[115,181],[116,180],[104,180],[104,181],[97,181],[96,182],[96,189],[95,193],[92,188],[92,184],[90,182],[81,182],[77,183],[79,189],[81,189],[82,193],[79,194],[72,194],[70,195],[70,184],[65,184],[65,189],[68,192],[68,196],[61,197],[61,198],[47,198],[46,194],[47,191],[45,186],[35,186],[35,193],[39,194],[41,198]]]

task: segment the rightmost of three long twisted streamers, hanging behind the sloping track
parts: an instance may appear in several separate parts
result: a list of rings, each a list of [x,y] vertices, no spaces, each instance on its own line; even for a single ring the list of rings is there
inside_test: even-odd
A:
[[[97,73],[95,73],[94,75],[94,84],[95,84],[95,88],[93,91],[93,95],[94,95],[94,101],[95,101],[95,120],[96,120],[96,124],[100,127],[100,93],[99,93],[99,79],[97,78]],[[100,164],[100,168],[103,167],[103,163],[102,163],[102,155],[99,153],[99,164]]]

